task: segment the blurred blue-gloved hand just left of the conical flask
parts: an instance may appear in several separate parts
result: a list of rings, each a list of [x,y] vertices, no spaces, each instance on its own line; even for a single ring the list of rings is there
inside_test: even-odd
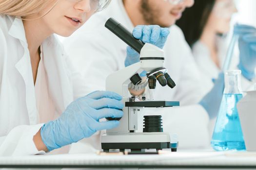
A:
[[[200,105],[207,111],[209,118],[217,117],[219,106],[222,100],[224,91],[224,74],[219,73],[218,78],[214,81],[214,87],[207,93],[199,102]]]

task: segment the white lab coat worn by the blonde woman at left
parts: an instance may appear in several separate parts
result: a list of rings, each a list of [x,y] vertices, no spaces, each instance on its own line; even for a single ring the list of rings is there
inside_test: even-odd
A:
[[[55,118],[82,95],[79,74],[73,71],[58,39],[42,44],[48,87],[56,107]],[[74,89],[74,91],[73,91]],[[38,124],[35,88],[22,20],[0,16],[0,156],[29,155],[38,151],[33,136]]]

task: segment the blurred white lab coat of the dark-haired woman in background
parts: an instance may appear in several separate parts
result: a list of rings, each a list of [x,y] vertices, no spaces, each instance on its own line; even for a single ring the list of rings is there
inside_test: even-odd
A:
[[[227,49],[228,49],[227,38],[217,36],[216,45],[218,50],[219,64],[220,66],[223,66]],[[201,73],[201,81],[204,84],[202,89],[206,94],[214,86],[214,83],[212,80],[218,77],[220,68],[218,68],[216,64],[213,62],[211,58],[211,53],[208,47],[204,45],[202,42],[200,42],[199,40],[192,46],[192,51],[193,51],[195,60],[197,62],[197,66]],[[238,62],[239,62],[238,48],[235,47],[234,56],[232,58],[230,69],[238,69],[237,68]],[[248,81],[245,77],[241,76],[241,85],[242,85],[243,91],[249,91],[253,89],[255,83],[256,83],[255,79],[252,81]],[[214,131],[215,122],[216,122],[216,118],[211,119],[209,123],[210,136],[212,136],[212,133]]]

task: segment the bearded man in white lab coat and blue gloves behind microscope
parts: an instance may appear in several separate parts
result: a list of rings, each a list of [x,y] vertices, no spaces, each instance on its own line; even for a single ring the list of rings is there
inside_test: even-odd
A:
[[[113,0],[108,9],[94,15],[78,32],[63,41],[74,65],[86,80],[90,80],[91,83],[86,84],[89,91],[104,90],[108,75],[139,61],[136,51],[127,48],[122,40],[104,27],[109,17],[114,17],[131,32],[134,30],[136,38],[163,48],[165,68],[168,68],[177,86],[170,89],[157,85],[153,96],[155,100],[179,101],[180,107],[147,109],[145,113],[162,115],[164,131],[177,133],[179,148],[206,148],[210,145],[207,130],[209,117],[215,117],[212,113],[217,112],[215,110],[220,104],[224,84],[222,75],[215,88],[202,99],[200,73],[181,30],[175,25],[185,8],[191,7],[193,3],[194,0]],[[160,39],[166,41],[165,44],[153,37],[148,39],[146,34],[141,33],[142,29],[152,34],[151,26],[141,25],[154,24],[167,27],[170,31],[168,37],[165,33],[160,35]],[[156,30],[160,32],[160,28]],[[146,83],[140,86],[139,94],[143,90],[148,92]],[[129,89],[136,88],[129,86]],[[143,115],[140,116],[139,131],[143,123]],[[100,149],[100,134],[84,142],[88,143],[88,140]],[[81,147],[79,151],[82,152]]]

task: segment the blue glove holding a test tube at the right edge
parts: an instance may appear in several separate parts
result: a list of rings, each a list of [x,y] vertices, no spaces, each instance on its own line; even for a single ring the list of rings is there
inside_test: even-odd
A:
[[[239,35],[240,62],[238,68],[248,80],[255,77],[256,68],[256,28],[248,25],[235,25],[234,34]]]

